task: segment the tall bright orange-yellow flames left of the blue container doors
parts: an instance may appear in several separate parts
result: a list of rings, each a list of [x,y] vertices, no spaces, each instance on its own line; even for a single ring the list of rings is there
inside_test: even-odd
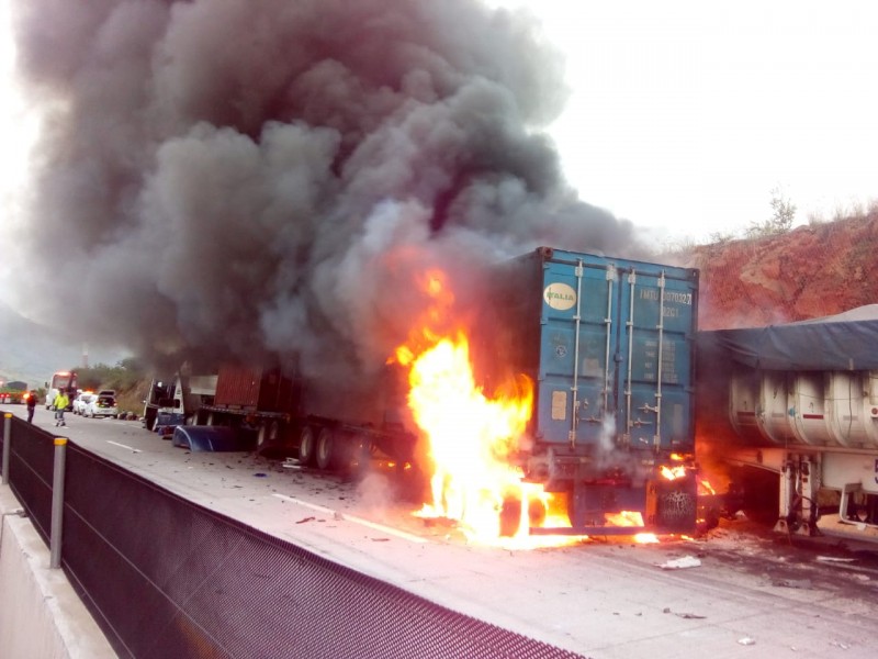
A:
[[[432,468],[431,500],[417,514],[455,521],[479,543],[528,548],[576,541],[528,533],[531,524],[570,526],[566,515],[551,512],[542,485],[525,482],[509,459],[530,420],[533,382],[518,376],[486,393],[475,381],[465,332],[440,336],[429,327],[453,300],[442,273],[429,273],[424,290],[437,304],[426,326],[396,350],[409,368],[408,405],[428,439]]]

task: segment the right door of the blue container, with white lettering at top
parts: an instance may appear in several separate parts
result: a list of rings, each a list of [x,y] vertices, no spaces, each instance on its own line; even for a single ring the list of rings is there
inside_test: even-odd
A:
[[[620,442],[632,448],[693,448],[696,281],[688,270],[672,271],[620,268],[616,395]]]

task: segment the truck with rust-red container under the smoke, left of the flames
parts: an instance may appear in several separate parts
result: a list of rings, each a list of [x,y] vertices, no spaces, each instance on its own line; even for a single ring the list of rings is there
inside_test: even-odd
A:
[[[145,427],[227,426],[260,451],[297,453],[302,463],[341,468],[381,451],[410,462],[415,435],[401,421],[404,390],[389,367],[384,387],[306,380],[294,369],[223,366],[213,376],[154,380]],[[207,383],[211,383],[207,387]]]

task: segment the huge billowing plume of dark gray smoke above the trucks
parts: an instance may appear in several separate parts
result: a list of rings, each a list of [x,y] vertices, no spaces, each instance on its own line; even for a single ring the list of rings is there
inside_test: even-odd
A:
[[[558,54],[476,0],[16,0],[44,118],[30,314],[146,359],[362,372],[420,272],[540,244],[630,252],[539,129]],[[465,297],[465,295],[464,295]]]

